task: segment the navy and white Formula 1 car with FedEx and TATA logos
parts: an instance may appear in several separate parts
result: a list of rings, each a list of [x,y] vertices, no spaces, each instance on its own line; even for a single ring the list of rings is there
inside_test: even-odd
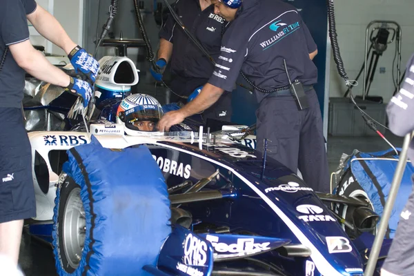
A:
[[[363,275],[378,219],[366,201],[313,191],[295,172],[243,144],[246,126],[221,124],[217,130],[216,124],[206,134],[206,126],[190,119],[164,135],[124,135],[113,111],[137,83],[137,69],[127,57],[104,57],[99,63],[106,69],[97,77],[92,109],[103,124],[83,124],[77,98],[63,91],[40,90],[35,97],[43,106],[26,109],[64,114],[59,128],[50,126],[48,115],[50,130],[28,133],[37,203],[28,228],[54,245],[59,275]],[[50,94],[55,99],[46,101]],[[68,103],[75,104],[61,107]],[[113,152],[129,155],[110,161]],[[131,170],[140,174],[124,179]],[[161,178],[165,189],[157,182]],[[161,188],[134,193],[140,179]],[[127,200],[126,191],[135,198]],[[118,193],[123,193],[124,202],[116,201],[121,205],[148,202],[135,206],[146,212],[120,212],[113,204]],[[333,204],[349,206],[346,217],[351,219],[333,212]],[[169,213],[159,215],[159,206],[168,206]],[[355,235],[347,235],[344,224]],[[157,229],[163,229],[162,235],[150,236]],[[107,233],[112,233],[109,238]],[[146,242],[134,249],[138,238]],[[377,275],[389,245],[383,243]],[[157,252],[153,259],[143,256],[148,248]],[[148,262],[137,262],[140,258]]]

